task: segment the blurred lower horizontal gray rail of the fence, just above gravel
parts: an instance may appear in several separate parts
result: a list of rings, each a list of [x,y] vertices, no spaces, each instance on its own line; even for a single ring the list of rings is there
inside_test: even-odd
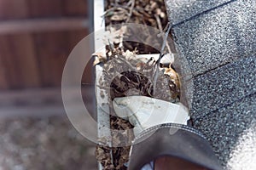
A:
[[[70,96],[71,106],[79,108],[75,90],[67,89]],[[84,88],[82,94],[88,94],[91,88]],[[36,96],[36,97],[35,97]],[[92,100],[86,101],[91,107]],[[61,98],[61,88],[36,88],[26,90],[0,91],[0,117],[13,116],[65,116],[65,110]]]

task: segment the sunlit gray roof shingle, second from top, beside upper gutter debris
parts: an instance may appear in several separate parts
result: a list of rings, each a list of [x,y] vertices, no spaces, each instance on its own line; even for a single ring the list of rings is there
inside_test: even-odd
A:
[[[180,1],[182,2],[187,3],[185,0]],[[193,2],[187,10],[183,9],[171,14],[176,16],[181,12],[189,13],[189,8],[202,8],[203,3],[196,2],[208,1]],[[167,6],[171,8],[172,0],[167,0],[166,4],[170,4]],[[177,50],[182,57],[188,59],[195,76],[235,59],[252,56],[256,48],[255,20],[256,1],[254,0],[234,1],[212,9],[173,27]]]

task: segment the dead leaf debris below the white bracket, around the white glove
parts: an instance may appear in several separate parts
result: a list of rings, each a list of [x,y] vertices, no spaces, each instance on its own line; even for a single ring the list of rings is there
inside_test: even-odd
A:
[[[145,62],[142,59],[137,59],[135,52],[128,50],[124,52],[120,48],[113,48],[108,53],[108,57],[102,59],[104,61],[102,62],[103,72],[102,78],[100,79],[100,88],[102,90],[108,90],[110,93],[108,105],[110,111],[112,111],[110,115],[111,129],[129,130],[133,128],[130,122],[114,116],[116,115],[112,105],[114,98],[142,95],[169,102],[177,101],[179,96],[179,81],[172,67],[159,68],[160,71],[157,75],[157,82],[154,88],[154,78],[152,77],[156,65],[154,59],[148,59]],[[96,158],[102,163],[105,169],[112,169],[113,167],[113,169],[126,169],[124,164],[129,161],[130,152],[130,146],[126,145],[131,144],[134,138],[133,133],[111,133],[111,135],[113,145],[124,145],[124,147],[110,148],[98,145]]]

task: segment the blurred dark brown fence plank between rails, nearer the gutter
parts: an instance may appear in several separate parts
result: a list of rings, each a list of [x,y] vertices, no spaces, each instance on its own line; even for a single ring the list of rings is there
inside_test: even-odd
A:
[[[68,48],[67,31],[36,34],[35,42],[38,47],[38,62],[43,86],[60,86],[62,70],[71,50]]]

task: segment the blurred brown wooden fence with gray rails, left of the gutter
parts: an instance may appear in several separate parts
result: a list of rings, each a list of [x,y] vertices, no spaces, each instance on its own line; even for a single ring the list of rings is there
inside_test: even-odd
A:
[[[62,70],[71,50],[93,31],[92,3],[0,0],[0,116],[64,112]]]

